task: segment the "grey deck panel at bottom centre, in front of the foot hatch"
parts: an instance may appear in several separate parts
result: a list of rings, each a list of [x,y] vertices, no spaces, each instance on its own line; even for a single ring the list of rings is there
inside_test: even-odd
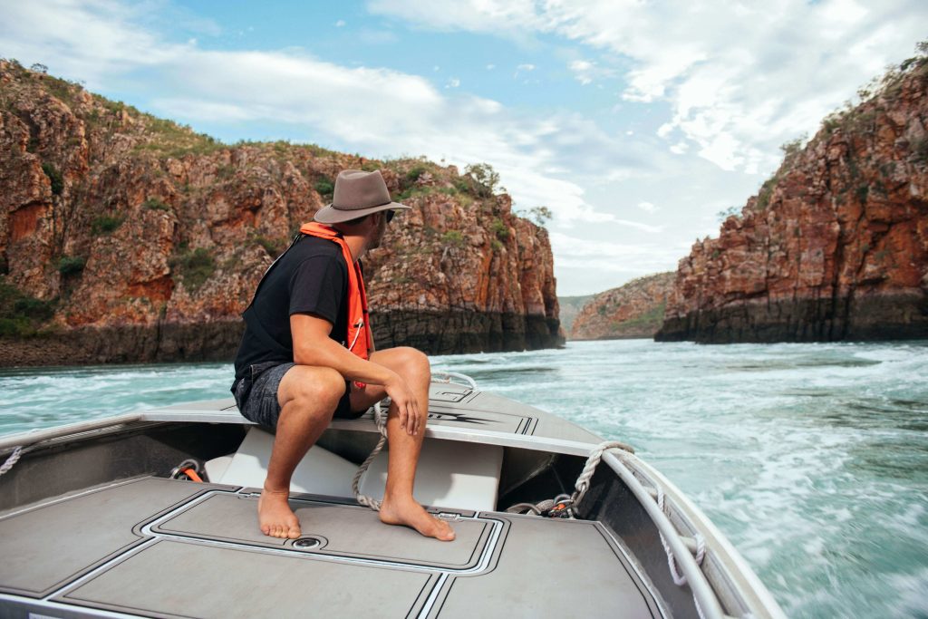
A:
[[[155,617],[406,617],[435,578],[160,540],[56,600]]]

